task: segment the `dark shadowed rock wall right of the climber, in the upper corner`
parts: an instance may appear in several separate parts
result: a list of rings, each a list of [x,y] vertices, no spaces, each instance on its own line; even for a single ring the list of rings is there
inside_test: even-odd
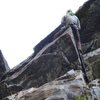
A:
[[[76,14],[81,21],[81,40],[88,42],[97,39],[99,42],[100,0],[88,0]]]

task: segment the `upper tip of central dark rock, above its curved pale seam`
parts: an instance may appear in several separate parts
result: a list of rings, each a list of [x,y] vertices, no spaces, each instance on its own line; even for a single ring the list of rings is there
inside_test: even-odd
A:
[[[77,59],[77,54],[69,34],[72,34],[71,28],[68,28],[61,36],[59,36],[57,39],[55,39],[54,41],[46,45],[42,50],[40,50],[40,52],[37,53],[34,59],[43,54],[63,53],[63,55],[65,55],[69,62],[75,61]]]

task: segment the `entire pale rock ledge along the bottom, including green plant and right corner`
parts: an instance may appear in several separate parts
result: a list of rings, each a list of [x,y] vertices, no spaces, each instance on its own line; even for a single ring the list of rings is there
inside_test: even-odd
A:
[[[21,91],[3,100],[99,100],[100,83],[98,81],[100,80],[91,82],[89,84],[90,88],[88,88],[82,72],[71,70],[58,79],[39,88],[30,88]]]

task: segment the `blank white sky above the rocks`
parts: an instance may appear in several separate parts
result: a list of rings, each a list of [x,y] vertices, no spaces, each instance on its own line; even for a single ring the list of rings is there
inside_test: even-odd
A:
[[[19,64],[33,47],[87,0],[0,0],[0,49],[9,66]]]

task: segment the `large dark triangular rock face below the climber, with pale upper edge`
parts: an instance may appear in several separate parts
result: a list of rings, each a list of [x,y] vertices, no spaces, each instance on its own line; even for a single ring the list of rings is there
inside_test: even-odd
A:
[[[70,62],[74,61],[77,55],[67,34],[70,32],[72,31],[69,28],[64,34],[45,46],[34,58],[31,55],[18,67],[6,73],[2,77],[2,84],[0,84],[1,87],[6,87],[1,91],[2,98],[8,95],[4,94],[3,90],[15,93],[14,88],[10,89],[11,87],[16,86],[16,92],[30,87],[37,88],[72,69],[74,66],[70,65]],[[62,44],[63,46],[61,46]],[[75,57],[72,58],[72,55]]]

